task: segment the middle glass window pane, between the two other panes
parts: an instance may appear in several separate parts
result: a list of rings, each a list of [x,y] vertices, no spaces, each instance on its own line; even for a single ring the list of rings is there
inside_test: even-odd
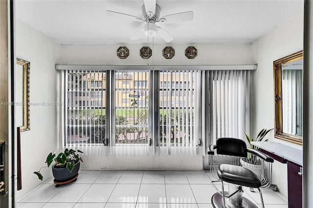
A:
[[[118,70],[115,77],[115,145],[147,145],[149,71]]]

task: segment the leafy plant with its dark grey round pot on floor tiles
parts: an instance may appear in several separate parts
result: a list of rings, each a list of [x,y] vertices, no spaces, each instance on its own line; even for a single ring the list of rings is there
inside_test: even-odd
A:
[[[74,149],[62,149],[62,151],[56,157],[56,152],[50,152],[46,158],[45,163],[49,167],[53,161],[55,164],[52,166],[52,174],[56,181],[67,181],[75,177],[78,174],[80,167],[80,161],[83,162],[83,159],[79,156],[79,153],[83,153],[80,150]],[[43,180],[43,175],[40,170],[44,167],[41,167],[39,171],[34,172],[40,180]]]

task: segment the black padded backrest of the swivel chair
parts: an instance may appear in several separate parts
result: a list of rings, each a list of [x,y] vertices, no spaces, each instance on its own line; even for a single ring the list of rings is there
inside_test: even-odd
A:
[[[216,153],[222,155],[247,157],[245,141],[235,138],[219,138],[216,141]]]

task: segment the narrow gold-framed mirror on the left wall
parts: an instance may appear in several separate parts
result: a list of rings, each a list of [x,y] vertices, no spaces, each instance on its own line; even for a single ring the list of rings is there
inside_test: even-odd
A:
[[[15,106],[16,124],[22,131],[30,130],[30,62],[16,59]]]

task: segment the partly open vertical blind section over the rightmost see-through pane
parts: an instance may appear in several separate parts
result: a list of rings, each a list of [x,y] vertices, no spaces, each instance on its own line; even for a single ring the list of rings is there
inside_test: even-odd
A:
[[[159,147],[165,155],[199,154],[201,71],[160,71]]]

